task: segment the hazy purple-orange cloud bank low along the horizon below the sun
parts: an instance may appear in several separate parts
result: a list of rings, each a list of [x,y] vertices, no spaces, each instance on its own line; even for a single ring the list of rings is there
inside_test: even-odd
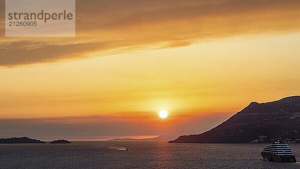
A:
[[[56,118],[0,119],[1,137],[29,136],[38,139],[103,139],[116,136],[199,133],[228,117],[226,114],[180,116],[161,127],[159,120],[148,121],[132,116],[68,116]],[[175,118],[175,117],[168,117]],[[197,125],[197,128],[192,126]],[[193,129],[191,129],[193,128]],[[171,139],[170,138],[170,139]]]

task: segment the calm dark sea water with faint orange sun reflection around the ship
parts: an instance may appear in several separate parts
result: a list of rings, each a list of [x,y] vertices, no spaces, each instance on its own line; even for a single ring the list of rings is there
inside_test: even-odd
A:
[[[263,161],[265,144],[168,144],[166,141],[82,141],[0,144],[1,168],[300,168]],[[290,144],[300,161],[300,144]],[[128,150],[125,150],[128,148]]]

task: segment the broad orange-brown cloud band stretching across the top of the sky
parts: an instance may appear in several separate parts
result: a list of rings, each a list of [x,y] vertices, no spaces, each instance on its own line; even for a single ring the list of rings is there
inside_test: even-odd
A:
[[[4,37],[0,66],[189,45],[238,34],[298,31],[298,0],[77,0],[76,37]]]

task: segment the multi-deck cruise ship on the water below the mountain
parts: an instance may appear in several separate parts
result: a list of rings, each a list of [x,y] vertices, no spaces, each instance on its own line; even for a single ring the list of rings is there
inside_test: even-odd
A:
[[[260,151],[260,154],[264,160],[268,161],[296,162],[295,155],[292,153],[290,146],[280,140],[266,145],[266,147]]]

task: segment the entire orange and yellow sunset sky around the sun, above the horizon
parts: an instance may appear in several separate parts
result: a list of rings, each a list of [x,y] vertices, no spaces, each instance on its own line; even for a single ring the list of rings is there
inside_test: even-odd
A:
[[[76,0],[75,37],[4,17],[0,137],[171,139],[300,94],[298,0]]]

